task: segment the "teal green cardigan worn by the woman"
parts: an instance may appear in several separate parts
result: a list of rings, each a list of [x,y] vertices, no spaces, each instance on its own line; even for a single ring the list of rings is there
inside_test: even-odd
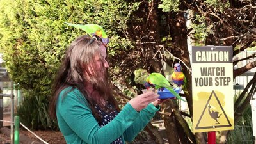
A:
[[[123,143],[130,142],[159,110],[149,104],[138,113],[127,103],[109,124],[100,127],[83,94],[69,90],[61,91],[56,104],[58,125],[67,144],[109,144],[120,136]]]

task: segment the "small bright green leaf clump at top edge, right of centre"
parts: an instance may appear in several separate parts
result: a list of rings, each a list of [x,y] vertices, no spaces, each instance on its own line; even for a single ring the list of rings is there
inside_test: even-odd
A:
[[[158,8],[162,8],[163,12],[177,12],[179,10],[179,0],[161,0],[163,3],[159,4]]]

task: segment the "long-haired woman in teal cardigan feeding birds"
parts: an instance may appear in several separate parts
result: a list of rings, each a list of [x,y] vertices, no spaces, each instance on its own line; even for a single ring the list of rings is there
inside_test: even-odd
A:
[[[108,84],[106,47],[80,36],[68,48],[56,77],[50,114],[68,144],[132,141],[159,109],[154,92],[131,99],[120,111]]]

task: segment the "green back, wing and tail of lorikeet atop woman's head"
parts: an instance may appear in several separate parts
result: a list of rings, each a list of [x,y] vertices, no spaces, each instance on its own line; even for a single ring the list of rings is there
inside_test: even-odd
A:
[[[92,36],[92,33],[96,33],[96,31],[100,30],[102,32],[102,38],[108,38],[102,26],[99,26],[97,24],[71,24],[68,22],[65,22],[65,24],[68,24],[69,26],[74,26],[75,28],[82,29],[90,36]]]

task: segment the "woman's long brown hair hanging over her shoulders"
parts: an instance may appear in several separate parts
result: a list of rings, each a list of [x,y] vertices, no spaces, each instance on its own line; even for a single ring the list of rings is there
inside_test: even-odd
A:
[[[58,96],[61,90],[68,86],[72,86],[73,89],[77,88],[83,93],[90,104],[93,116],[98,121],[100,121],[100,116],[94,107],[95,104],[98,104],[100,108],[104,108],[105,106],[102,102],[108,100],[109,104],[112,104],[117,111],[120,111],[111,92],[111,86],[108,83],[107,70],[104,70],[105,72],[97,70],[95,56],[100,58],[103,65],[102,56],[100,56],[100,46],[102,46],[100,40],[92,40],[92,38],[86,35],[79,36],[70,44],[52,86],[52,100],[49,106],[49,114],[52,118],[56,118]],[[92,85],[92,93],[86,90],[86,84]]]

